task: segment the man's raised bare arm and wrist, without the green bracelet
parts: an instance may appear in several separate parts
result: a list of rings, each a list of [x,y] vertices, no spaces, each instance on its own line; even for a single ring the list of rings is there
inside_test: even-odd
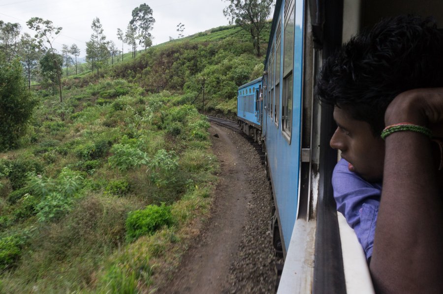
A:
[[[385,124],[443,119],[443,89],[398,95]],[[370,265],[379,293],[443,293],[443,204],[431,140],[402,131],[386,138],[383,191]]]

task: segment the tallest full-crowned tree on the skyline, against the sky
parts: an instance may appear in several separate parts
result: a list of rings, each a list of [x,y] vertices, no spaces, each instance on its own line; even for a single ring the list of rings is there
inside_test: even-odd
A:
[[[145,51],[147,45],[150,44],[148,40],[151,40],[152,44],[152,35],[149,31],[153,29],[155,22],[156,20],[152,17],[152,9],[146,3],[140,4],[139,7],[132,10],[132,19],[129,24],[138,31],[140,35],[139,44],[145,46]]]

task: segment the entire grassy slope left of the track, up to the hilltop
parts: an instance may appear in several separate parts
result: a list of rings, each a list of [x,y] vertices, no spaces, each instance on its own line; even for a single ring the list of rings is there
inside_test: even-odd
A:
[[[205,78],[206,110],[232,114],[262,70],[245,32],[213,30],[129,55],[98,84],[67,79],[62,104],[40,91],[22,147],[0,153],[1,293],[151,291],[177,265],[218,171],[189,103]],[[154,223],[172,223],[130,237],[129,211],[160,203]]]

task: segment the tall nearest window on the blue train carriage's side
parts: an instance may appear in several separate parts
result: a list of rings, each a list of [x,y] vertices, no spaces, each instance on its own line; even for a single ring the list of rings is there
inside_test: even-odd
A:
[[[285,31],[283,40],[283,113],[282,130],[289,138],[292,126],[292,69],[294,61],[294,29],[295,5],[294,0],[285,5]]]

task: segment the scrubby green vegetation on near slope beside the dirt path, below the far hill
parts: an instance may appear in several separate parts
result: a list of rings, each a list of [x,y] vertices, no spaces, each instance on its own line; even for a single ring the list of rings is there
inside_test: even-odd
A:
[[[42,94],[22,147],[0,154],[0,292],[148,289],[210,206],[209,124],[186,96],[122,79]]]

